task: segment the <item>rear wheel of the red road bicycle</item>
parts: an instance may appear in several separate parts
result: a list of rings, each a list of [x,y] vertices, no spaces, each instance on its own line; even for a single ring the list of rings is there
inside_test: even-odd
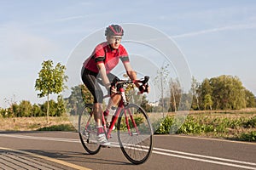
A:
[[[101,145],[96,142],[96,125],[92,115],[92,105],[84,105],[83,111],[79,114],[79,138],[90,155],[95,155],[101,150]],[[89,121],[90,120],[90,121]],[[89,123],[87,129],[86,124]]]

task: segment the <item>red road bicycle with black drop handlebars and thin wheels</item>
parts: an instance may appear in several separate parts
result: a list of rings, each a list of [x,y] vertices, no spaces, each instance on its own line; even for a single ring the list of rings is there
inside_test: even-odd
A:
[[[148,115],[143,108],[136,104],[130,104],[125,95],[125,88],[135,82],[148,86],[149,77],[143,80],[119,80],[115,83],[115,88],[122,99],[116,109],[110,126],[106,127],[104,115],[102,113],[102,124],[105,129],[107,139],[113,138],[117,134],[118,144],[125,157],[133,164],[142,164],[148,160],[153,149],[153,127]],[[109,95],[104,96],[104,99]],[[101,150],[101,145],[96,142],[96,123],[93,117],[92,104],[85,104],[84,110],[79,114],[79,138],[84,149],[95,155]],[[116,125],[116,129],[113,127]],[[114,133],[113,133],[114,132]],[[111,143],[111,146],[113,143]]]

